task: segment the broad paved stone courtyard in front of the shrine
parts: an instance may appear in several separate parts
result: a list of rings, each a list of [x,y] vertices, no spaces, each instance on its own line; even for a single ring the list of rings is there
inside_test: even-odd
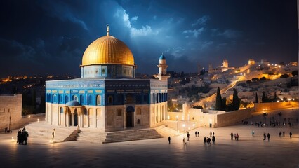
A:
[[[269,111],[277,120],[291,118],[294,127],[258,127],[234,125],[190,130],[190,141],[182,143],[186,134],[168,138],[127,141],[113,144],[86,144],[69,141],[55,144],[17,145],[13,134],[0,134],[0,167],[299,167],[298,109]],[[282,118],[277,113],[282,112]],[[249,123],[263,121],[256,113]],[[268,119],[267,119],[268,120]],[[288,119],[287,119],[288,120]],[[251,135],[254,130],[254,137]],[[199,131],[199,137],[194,132]],[[204,146],[204,136],[215,132],[215,145]],[[279,138],[279,131],[286,132]],[[238,133],[239,141],[230,133]],[[263,141],[263,133],[270,141]],[[289,132],[293,133],[292,138]],[[29,132],[30,134],[30,132]],[[29,137],[30,138],[30,137]]]

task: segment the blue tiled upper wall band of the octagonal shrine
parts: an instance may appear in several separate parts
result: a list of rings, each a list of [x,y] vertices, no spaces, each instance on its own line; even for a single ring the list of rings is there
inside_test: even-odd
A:
[[[81,105],[156,104],[167,101],[167,82],[150,79],[95,79],[46,81],[46,102]]]

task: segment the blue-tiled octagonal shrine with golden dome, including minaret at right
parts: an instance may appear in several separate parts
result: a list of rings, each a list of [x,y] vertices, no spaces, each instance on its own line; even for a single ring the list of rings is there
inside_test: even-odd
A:
[[[109,35],[107,25],[107,35],[84,52],[81,78],[46,81],[46,123],[103,132],[162,123],[168,79],[164,55],[157,66],[159,80],[136,79],[131,50]]]

